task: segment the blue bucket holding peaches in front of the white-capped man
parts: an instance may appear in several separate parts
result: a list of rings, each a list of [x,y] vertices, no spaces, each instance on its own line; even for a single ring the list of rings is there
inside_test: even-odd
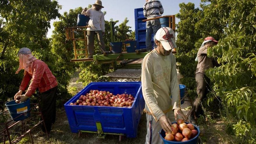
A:
[[[177,122],[172,122],[172,124],[174,124],[174,123],[177,123]],[[185,123],[189,124],[189,122],[185,122]],[[199,130],[198,126],[194,125],[194,127],[195,127],[195,130],[198,131],[198,134],[194,138],[192,138],[192,139],[190,139],[188,141],[183,141],[183,142],[181,142],[181,141],[167,141],[167,140],[165,140],[164,139],[165,131],[163,129],[161,131],[159,131],[158,133],[159,133],[160,137],[162,138],[164,144],[198,144],[198,137],[199,137],[199,134],[200,134],[200,130]]]

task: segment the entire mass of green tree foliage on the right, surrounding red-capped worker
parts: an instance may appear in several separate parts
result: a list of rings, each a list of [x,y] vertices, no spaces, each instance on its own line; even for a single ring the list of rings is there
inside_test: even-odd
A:
[[[180,4],[177,17],[181,19],[177,28],[179,70],[181,80],[193,90],[191,79],[195,72],[196,52],[203,38],[213,36],[218,45],[210,48],[207,55],[218,58],[220,67],[207,71],[212,81],[213,93],[207,95],[208,104],[217,97],[226,109],[227,118],[232,120],[232,134],[244,143],[255,140],[256,110],[256,1],[247,0],[202,0],[202,10],[192,3]],[[204,106],[207,106],[204,104]]]

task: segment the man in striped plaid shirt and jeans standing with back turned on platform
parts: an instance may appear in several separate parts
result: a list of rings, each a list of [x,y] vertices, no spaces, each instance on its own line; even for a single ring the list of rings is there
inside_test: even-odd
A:
[[[163,14],[163,6],[159,0],[146,0],[146,3],[143,6],[143,14],[147,19],[151,19],[154,17],[160,17]],[[151,36],[154,33],[154,41],[155,34],[157,30],[161,28],[160,20],[154,19],[147,21],[146,23],[146,48],[152,49]],[[154,43],[154,48],[157,45]]]

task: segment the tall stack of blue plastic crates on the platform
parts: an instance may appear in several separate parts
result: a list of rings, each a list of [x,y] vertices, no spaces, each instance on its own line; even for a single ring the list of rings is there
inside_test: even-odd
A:
[[[135,39],[136,39],[136,49],[146,48],[146,22],[142,20],[147,19],[143,15],[143,8],[134,9],[135,16]],[[154,45],[154,34],[151,37],[152,48]]]

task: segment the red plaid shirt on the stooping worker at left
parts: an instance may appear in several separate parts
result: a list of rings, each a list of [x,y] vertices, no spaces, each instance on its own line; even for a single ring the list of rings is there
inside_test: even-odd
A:
[[[43,61],[35,60],[33,62],[32,73],[33,75],[26,72],[19,87],[19,89],[25,91],[30,80],[32,79],[29,88],[25,93],[27,97],[31,97],[31,95],[35,92],[36,88],[39,89],[40,93],[43,93],[58,85],[56,78],[51,73],[49,67]]]

